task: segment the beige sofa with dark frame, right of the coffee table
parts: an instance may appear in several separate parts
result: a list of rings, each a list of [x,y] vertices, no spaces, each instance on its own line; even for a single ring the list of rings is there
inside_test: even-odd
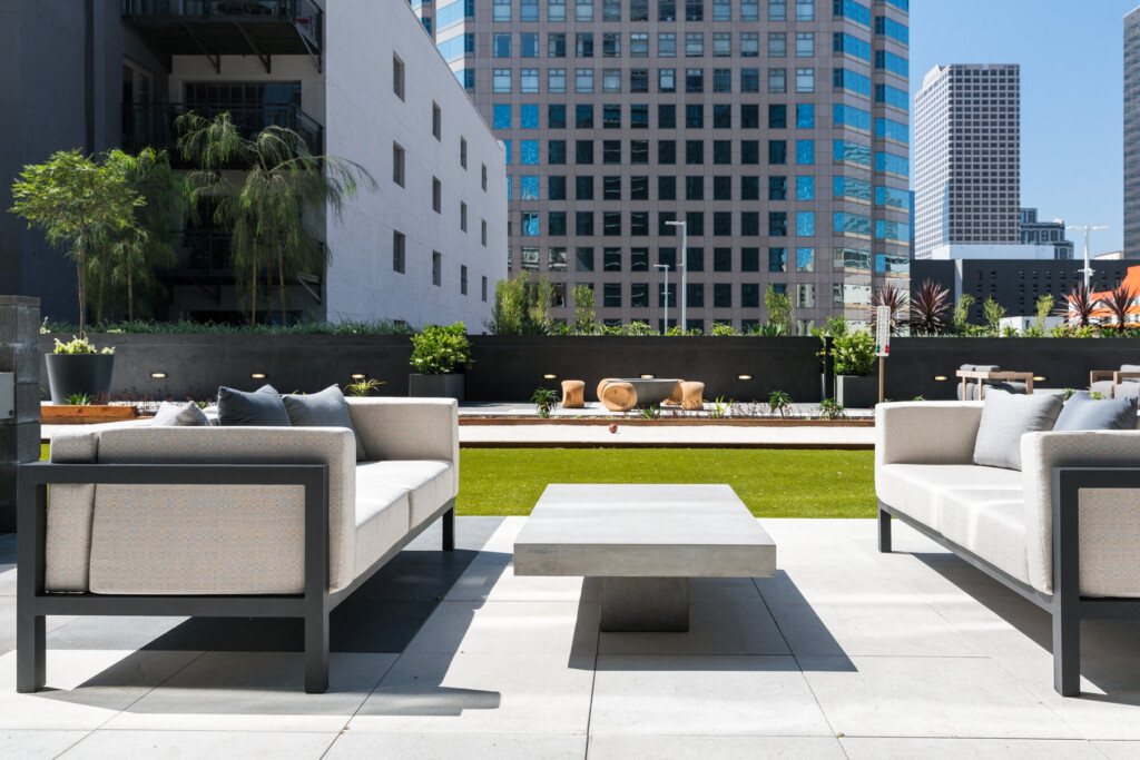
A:
[[[876,408],[879,549],[891,517],[1052,614],[1054,687],[1080,694],[1081,620],[1140,618],[1140,431],[1021,436],[1021,467],[972,464],[979,402]]]

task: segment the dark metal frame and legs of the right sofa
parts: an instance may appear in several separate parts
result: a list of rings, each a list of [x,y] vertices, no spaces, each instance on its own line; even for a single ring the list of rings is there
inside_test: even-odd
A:
[[[1140,598],[1081,596],[1077,493],[1082,489],[1134,489],[1140,468],[1054,467],[1052,477],[1053,593],[1045,594],[946,539],[913,517],[879,501],[879,551],[889,553],[891,516],[1009,587],[1053,618],[1053,688],[1061,696],[1081,694],[1081,621],[1140,619]]]

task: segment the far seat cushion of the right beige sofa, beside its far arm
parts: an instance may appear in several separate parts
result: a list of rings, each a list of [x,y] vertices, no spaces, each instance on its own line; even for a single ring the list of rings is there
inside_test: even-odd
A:
[[[874,490],[887,506],[939,530],[942,500],[947,491],[995,489],[1021,491],[1021,473],[980,465],[883,465],[874,479]]]

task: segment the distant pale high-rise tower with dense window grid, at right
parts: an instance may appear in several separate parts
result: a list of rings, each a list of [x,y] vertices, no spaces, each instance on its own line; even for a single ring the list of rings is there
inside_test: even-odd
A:
[[[954,64],[914,98],[914,256],[958,245],[1017,245],[1020,67]]]

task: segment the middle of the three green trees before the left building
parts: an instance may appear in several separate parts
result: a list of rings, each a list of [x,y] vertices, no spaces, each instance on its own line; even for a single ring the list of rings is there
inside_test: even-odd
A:
[[[135,321],[135,288],[156,281],[155,271],[174,263],[178,234],[173,220],[194,211],[194,191],[185,174],[170,165],[165,150],[144,148],[137,156],[112,150],[105,162],[111,171],[123,177],[145,204],[136,210],[131,228],[108,230],[101,240],[99,256],[100,316],[103,279],[127,289],[127,319]]]

